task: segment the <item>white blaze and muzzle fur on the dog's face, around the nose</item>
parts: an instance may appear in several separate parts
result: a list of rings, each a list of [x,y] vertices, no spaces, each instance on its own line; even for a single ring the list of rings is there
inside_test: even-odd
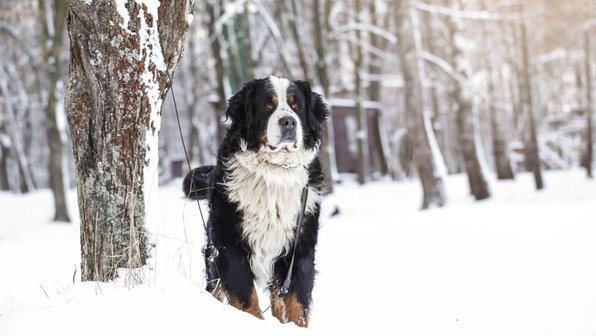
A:
[[[273,86],[277,97],[277,107],[267,122],[267,147],[274,151],[284,146],[291,151],[297,150],[302,147],[302,125],[300,124],[300,118],[288,104],[290,81],[287,78],[270,76],[269,82]],[[289,143],[287,140],[282,143],[282,129],[279,120],[284,117],[292,117],[296,121],[296,143]]]

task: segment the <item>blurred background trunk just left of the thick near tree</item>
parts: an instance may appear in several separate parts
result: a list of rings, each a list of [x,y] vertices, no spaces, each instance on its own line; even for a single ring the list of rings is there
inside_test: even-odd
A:
[[[42,47],[48,78],[47,137],[49,146],[50,189],[54,196],[54,221],[70,222],[66,203],[64,180],[64,143],[62,130],[58,125],[58,88],[62,76],[60,56],[64,24],[66,23],[66,0],[39,0],[39,14],[42,27]]]

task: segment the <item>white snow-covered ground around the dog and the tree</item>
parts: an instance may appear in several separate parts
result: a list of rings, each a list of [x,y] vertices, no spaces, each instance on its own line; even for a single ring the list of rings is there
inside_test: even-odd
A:
[[[308,330],[204,291],[203,227],[179,181],[161,187],[151,270],[134,286],[79,281],[78,224],[49,221],[49,192],[0,193],[0,335],[596,335],[596,182],[545,181],[493,181],[474,202],[450,176],[448,206],[423,212],[417,181],[338,186]]]

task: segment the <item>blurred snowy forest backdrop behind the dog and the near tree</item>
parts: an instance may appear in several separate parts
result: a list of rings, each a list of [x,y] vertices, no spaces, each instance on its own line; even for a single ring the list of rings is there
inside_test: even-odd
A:
[[[58,160],[62,185],[73,187],[59,3],[0,0],[2,190],[57,190]],[[203,0],[195,7],[174,80],[193,165],[215,162],[227,98],[250,78],[276,74],[307,79],[324,94],[332,118],[321,148],[335,182],[420,178],[426,208],[448,202],[444,174],[467,174],[475,199],[490,197],[494,178],[517,173],[532,173],[537,189],[548,187],[547,169],[583,166],[591,176],[595,0]],[[161,183],[184,173],[177,132],[168,96]]]

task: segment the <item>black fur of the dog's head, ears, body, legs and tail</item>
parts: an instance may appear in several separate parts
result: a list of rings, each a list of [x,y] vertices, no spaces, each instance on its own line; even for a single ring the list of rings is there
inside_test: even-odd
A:
[[[183,191],[189,198],[209,200],[207,246],[204,249],[207,290],[213,293],[221,285],[226,295],[237,299],[243,308],[252,303],[254,275],[249,263],[252,251],[241,236],[243,214],[238,209],[238,204],[228,199],[227,190],[222,183],[226,174],[223,163],[240,150],[241,140],[246,141],[248,150],[257,151],[262,145],[260,138],[271,115],[265,104],[270,100],[272,90],[267,78],[256,79],[246,83],[230,98],[226,116],[231,120],[231,125],[219,149],[217,165],[196,168],[188,173],[183,182]],[[291,81],[288,92],[295,96],[299,105],[295,112],[303,128],[304,147],[313,149],[320,144],[321,123],[327,117],[327,108],[321,96],[311,91],[308,82]],[[324,175],[318,158],[308,167],[308,184],[311,189],[322,193]],[[315,278],[319,212],[320,207],[317,204],[315,211],[305,216],[289,288],[289,293],[294,293],[305,308],[305,314],[311,303]],[[274,291],[281,286],[291,258],[291,253],[288,253],[276,260],[270,290]]]

